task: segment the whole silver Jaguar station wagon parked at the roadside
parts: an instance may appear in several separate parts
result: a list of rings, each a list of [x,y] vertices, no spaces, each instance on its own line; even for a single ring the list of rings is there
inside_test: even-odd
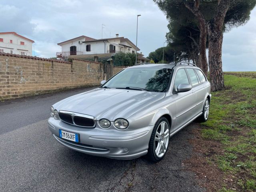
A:
[[[57,102],[48,127],[62,145],[115,159],[164,158],[172,135],[206,121],[210,83],[186,62],[126,68],[102,86]]]

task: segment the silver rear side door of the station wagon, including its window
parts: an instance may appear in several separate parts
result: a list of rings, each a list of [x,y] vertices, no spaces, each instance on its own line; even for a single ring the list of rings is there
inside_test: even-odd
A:
[[[202,105],[204,102],[206,89],[204,88],[204,84],[200,81],[200,78],[198,77],[198,75],[196,74],[193,68],[186,68],[186,71],[188,73],[188,77],[190,78],[192,90],[196,95],[196,100],[195,100],[196,106],[194,108],[194,116],[196,116],[200,112],[202,112]]]

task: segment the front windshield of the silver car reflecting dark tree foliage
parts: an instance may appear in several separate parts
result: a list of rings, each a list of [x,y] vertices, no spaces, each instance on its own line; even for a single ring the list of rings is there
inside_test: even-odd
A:
[[[169,68],[128,68],[106,82],[103,87],[166,92],[171,73],[172,69]]]

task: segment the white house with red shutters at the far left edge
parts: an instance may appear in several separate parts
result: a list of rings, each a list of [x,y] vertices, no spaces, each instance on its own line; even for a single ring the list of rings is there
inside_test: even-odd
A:
[[[0,52],[32,56],[33,43],[16,32],[0,32]]]

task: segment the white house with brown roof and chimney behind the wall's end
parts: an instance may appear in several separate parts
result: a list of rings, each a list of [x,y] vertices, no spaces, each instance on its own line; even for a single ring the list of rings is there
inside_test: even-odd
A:
[[[80,36],[61,43],[62,52],[57,52],[58,58],[64,58],[70,55],[86,55],[86,54],[104,54],[116,52],[136,52],[136,46],[128,39],[119,37],[115,38],[94,39],[87,36]],[[137,47],[137,51],[140,49]]]

